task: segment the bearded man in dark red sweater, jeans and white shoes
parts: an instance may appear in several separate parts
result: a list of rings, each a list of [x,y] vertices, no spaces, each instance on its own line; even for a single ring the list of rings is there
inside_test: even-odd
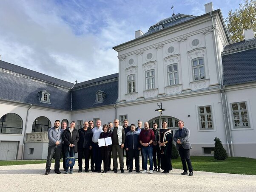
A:
[[[148,122],[144,123],[144,129],[139,134],[139,143],[142,146],[142,168],[141,173],[146,173],[148,170],[148,159],[149,159],[149,173],[153,174],[153,148],[152,143],[155,139],[154,131],[149,129]]]

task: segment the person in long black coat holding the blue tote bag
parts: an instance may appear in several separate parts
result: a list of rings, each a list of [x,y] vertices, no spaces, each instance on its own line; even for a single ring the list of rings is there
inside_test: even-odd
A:
[[[64,141],[64,152],[66,157],[74,157],[74,154],[77,152],[77,143],[79,140],[78,130],[75,128],[75,121],[72,121],[70,127],[64,130],[63,132],[63,141]],[[70,150],[69,150],[70,148]],[[68,154],[69,150],[69,154]],[[73,152],[74,150],[74,152]],[[73,167],[70,167],[69,173],[73,173]],[[65,174],[68,174],[68,167],[66,167]]]

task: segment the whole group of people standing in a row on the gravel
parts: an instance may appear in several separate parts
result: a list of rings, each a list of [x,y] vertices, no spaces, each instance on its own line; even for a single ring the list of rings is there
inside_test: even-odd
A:
[[[171,152],[173,140],[179,150],[182,159],[183,172],[182,175],[193,175],[193,168],[189,156],[191,144],[188,140],[190,136],[189,129],[184,127],[184,122],[179,121],[179,130],[173,136],[166,121],[162,122],[162,129],[157,128],[157,124],[153,123],[152,129],[149,128],[148,122],[138,121],[138,126],[131,124],[128,126],[128,120],[123,121],[123,126],[119,125],[119,120],[103,124],[101,120],[96,121],[94,127],[93,121],[85,121],[83,127],[79,130],[75,129],[75,122],[72,121],[70,127],[67,127],[65,121],[56,120],[54,127],[48,130],[49,147],[46,162],[46,175],[50,173],[51,159],[55,154],[54,172],[60,172],[60,155],[63,154],[63,169],[65,174],[68,173],[68,167],[65,166],[66,157],[74,157],[78,152],[78,172],[82,172],[82,159],[84,158],[84,171],[89,172],[89,162],[92,172],[101,172],[101,164],[103,161],[103,172],[111,170],[111,152],[113,158],[113,171],[118,172],[117,154],[119,157],[119,168],[124,171],[124,153],[126,154],[126,168],[128,172],[140,172],[139,153],[142,155],[142,171],[169,173],[172,170]],[[111,138],[111,143],[99,146],[99,139]],[[105,141],[105,140],[104,140]],[[135,160],[135,170],[134,168]],[[188,164],[188,169],[186,166]],[[153,169],[154,164],[154,169]],[[73,167],[69,168],[69,173],[73,173]]]

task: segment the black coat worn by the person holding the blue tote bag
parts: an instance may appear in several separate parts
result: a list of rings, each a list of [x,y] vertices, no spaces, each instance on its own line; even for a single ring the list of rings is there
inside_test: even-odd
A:
[[[74,128],[72,132],[72,138],[71,138],[71,133],[68,130],[68,128],[66,128],[63,132],[64,151],[67,152],[69,149],[69,145],[74,144],[74,152],[77,152],[78,140],[79,140],[78,130]]]

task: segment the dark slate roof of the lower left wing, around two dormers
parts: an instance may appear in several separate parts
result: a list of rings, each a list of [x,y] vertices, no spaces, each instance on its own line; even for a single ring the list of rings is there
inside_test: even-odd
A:
[[[0,61],[0,69],[4,69],[0,70],[0,99],[7,101],[79,110],[114,104],[118,98],[118,73],[74,85],[4,61]],[[42,90],[50,93],[50,104],[40,102],[38,92]],[[97,90],[104,91],[106,96],[102,103],[94,104]]]

